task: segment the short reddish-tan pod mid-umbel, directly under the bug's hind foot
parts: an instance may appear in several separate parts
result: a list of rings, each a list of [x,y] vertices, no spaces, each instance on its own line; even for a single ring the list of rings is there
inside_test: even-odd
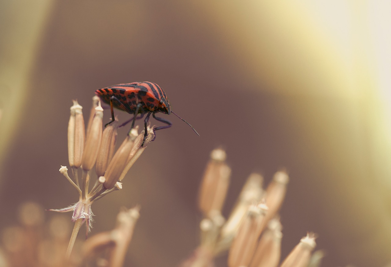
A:
[[[113,158],[115,144],[117,142],[117,129],[118,121],[115,120],[113,123],[110,123],[103,131],[102,142],[100,144],[97,162],[95,164],[95,171],[98,177],[104,176],[107,166]]]

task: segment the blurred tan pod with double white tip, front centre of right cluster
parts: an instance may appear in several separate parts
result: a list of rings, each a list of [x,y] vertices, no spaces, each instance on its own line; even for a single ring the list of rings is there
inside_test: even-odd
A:
[[[258,241],[259,227],[267,212],[265,204],[251,205],[239,226],[228,255],[229,267],[248,266]]]

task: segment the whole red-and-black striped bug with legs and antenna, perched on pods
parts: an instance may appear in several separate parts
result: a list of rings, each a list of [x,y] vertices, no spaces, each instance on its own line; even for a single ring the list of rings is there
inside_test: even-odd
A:
[[[135,126],[137,115],[141,114],[141,116],[137,118],[141,119],[147,113],[147,116],[144,119],[145,131],[144,139],[141,146],[144,145],[145,139],[148,135],[147,123],[151,114],[152,117],[154,117],[154,119],[156,119],[157,121],[167,124],[165,126],[159,126],[153,129],[154,137],[151,141],[155,140],[155,131],[171,127],[172,123],[170,121],[155,116],[155,114],[158,112],[167,115],[173,113],[179,119],[187,123],[187,125],[190,126],[193,131],[199,136],[193,126],[191,126],[187,121],[172,112],[166,93],[163,91],[163,89],[160,88],[159,85],[155,84],[154,82],[132,82],[130,84],[112,85],[95,91],[95,94],[97,94],[97,96],[99,96],[99,98],[104,103],[110,105],[111,121],[105,126],[109,125],[115,120],[113,108],[124,110],[129,114],[134,114],[133,118],[120,125],[124,126],[130,121],[132,121],[131,129],[133,129],[133,127]]]

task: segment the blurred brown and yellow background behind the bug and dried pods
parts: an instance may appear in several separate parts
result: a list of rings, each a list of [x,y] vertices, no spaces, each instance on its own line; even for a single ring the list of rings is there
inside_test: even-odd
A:
[[[233,171],[224,215],[251,172],[268,183],[285,167],[282,257],[315,231],[323,266],[385,266],[390,9],[387,1],[1,1],[0,228],[16,224],[24,201],[77,201],[58,172],[68,165],[72,99],[86,115],[96,89],[148,80],[201,137],[168,117],[173,126],[158,132],[124,188],[93,205],[92,234],[112,229],[120,206],[141,205],[128,265],[176,266],[190,255],[199,183],[210,151],[223,146]]]

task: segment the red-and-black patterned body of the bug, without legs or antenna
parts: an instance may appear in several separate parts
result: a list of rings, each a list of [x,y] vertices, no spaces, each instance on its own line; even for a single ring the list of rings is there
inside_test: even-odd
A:
[[[117,100],[113,101],[113,107],[124,110],[129,114],[136,112],[138,103],[142,105],[138,113],[171,113],[167,95],[154,82],[132,82],[130,84],[112,85],[95,91],[95,94],[107,104],[110,104],[110,98],[115,96]]]

